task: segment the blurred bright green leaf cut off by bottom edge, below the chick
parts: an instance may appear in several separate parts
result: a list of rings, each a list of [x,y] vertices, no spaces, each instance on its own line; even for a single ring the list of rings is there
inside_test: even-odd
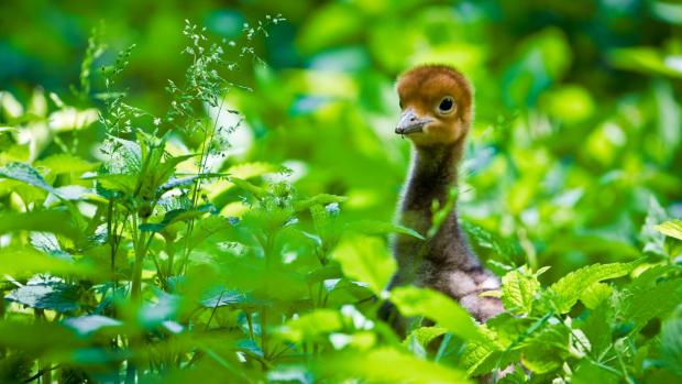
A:
[[[362,380],[367,383],[471,383],[462,371],[387,347],[327,356],[315,365],[315,370],[324,382]]]

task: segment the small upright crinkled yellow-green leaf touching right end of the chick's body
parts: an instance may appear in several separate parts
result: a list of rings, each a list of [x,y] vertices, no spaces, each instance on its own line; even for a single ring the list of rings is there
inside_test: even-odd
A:
[[[526,267],[512,271],[502,278],[502,303],[513,314],[530,314],[539,289],[538,277]]]

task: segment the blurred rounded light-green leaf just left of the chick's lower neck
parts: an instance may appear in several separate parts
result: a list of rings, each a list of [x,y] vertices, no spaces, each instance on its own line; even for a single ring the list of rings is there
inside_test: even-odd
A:
[[[332,253],[343,273],[366,283],[375,294],[381,294],[396,271],[396,262],[378,238],[366,235],[345,237]]]

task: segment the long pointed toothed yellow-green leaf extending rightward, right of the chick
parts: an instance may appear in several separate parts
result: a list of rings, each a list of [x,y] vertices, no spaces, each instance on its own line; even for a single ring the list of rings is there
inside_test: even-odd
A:
[[[571,310],[583,292],[594,283],[625,276],[630,273],[639,262],[593,264],[571,272],[557,283],[552,284],[547,294],[553,307],[559,314]]]

